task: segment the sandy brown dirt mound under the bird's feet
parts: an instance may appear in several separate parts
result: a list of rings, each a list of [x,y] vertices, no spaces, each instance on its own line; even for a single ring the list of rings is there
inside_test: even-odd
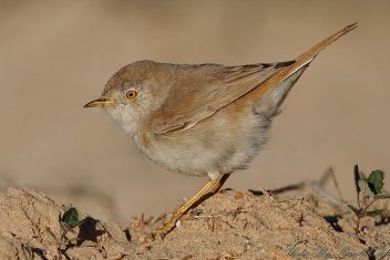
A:
[[[165,216],[119,227],[81,215],[82,225],[70,228],[61,222],[66,207],[14,188],[1,196],[0,208],[0,259],[367,258],[390,236],[388,225],[371,221],[358,238],[351,220],[324,218],[308,199],[234,190],[201,204],[164,240],[150,231]]]

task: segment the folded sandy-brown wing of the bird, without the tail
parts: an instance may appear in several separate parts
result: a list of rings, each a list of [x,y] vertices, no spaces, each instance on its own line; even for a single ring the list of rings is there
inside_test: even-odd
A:
[[[172,87],[168,97],[152,115],[152,128],[157,135],[188,129],[294,62],[194,66],[184,82]]]

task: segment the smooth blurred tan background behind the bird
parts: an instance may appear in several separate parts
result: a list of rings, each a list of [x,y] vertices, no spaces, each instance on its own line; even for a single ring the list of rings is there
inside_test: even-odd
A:
[[[206,178],[144,158],[100,110],[109,77],[137,60],[286,61],[352,22],[295,85],[274,137],[225,187],[278,188],[332,167],[390,173],[389,1],[0,1],[0,188],[35,188],[103,220],[172,211]],[[389,189],[389,183],[386,184]],[[329,185],[329,190],[335,189]]]

